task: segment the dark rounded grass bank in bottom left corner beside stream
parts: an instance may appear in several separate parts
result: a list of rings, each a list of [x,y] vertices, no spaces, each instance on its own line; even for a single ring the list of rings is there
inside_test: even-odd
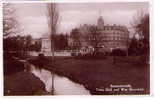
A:
[[[29,72],[20,71],[4,77],[5,96],[42,95],[45,93],[44,83]]]

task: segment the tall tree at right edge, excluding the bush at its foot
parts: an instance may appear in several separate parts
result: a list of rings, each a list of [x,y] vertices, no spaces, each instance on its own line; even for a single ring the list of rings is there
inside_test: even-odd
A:
[[[143,11],[138,12],[134,17],[132,25],[136,34],[139,36],[139,44],[143,44],[142,51],[149,53],[149,13]]]

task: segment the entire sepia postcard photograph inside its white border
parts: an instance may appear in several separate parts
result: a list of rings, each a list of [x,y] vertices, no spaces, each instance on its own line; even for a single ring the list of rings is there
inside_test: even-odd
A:
[[[150,95],[149,2],[2,10],[4,96]]]

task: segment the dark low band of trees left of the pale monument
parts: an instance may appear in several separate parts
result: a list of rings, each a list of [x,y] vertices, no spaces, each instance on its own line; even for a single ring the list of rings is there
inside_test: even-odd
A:
[[[3,38],[4,56],[10,55],[22,57],[26,56],[27,51],[40,51],[41,41],[32,43],[32,37],[28,36],[12,36]]]

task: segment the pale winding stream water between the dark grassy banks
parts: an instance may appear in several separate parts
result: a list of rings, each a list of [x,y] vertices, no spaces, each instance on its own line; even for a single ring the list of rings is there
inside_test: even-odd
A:
[[[31,65],[31,73],[40,78],[45,84],[47,92],[52,90],[52,73],[46,69],[38,69]],[[67,77],[60,77],[54,74],[54,94],[55,95],[90,95],[83,85],[69,80]]]

